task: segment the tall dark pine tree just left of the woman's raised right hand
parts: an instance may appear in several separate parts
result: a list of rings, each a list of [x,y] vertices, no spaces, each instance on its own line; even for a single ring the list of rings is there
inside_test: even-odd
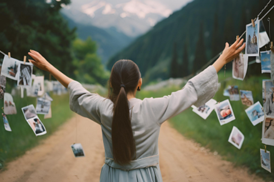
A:
[[[193,61],[193,73],[196,73],[201,69],[206,63],[204,36],[203,36],[203,24],[200,25],[199,39],[196,43],[195,59]]]

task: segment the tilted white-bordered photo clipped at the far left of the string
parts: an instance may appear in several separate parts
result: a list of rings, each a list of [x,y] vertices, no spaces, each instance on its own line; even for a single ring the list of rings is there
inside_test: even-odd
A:
[[[1,75],[6,76],[10,79],[17,80],[18,78],[18,70],[20,69],[20,60],[15,58],[9,58],[8,55],[4,56]]]

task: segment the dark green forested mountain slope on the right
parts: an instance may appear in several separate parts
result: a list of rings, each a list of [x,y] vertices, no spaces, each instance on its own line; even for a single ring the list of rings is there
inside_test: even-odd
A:
[[[218,43],[213,52],[222,51],[225,42],[233,43],[236,35],[243,33],[245,25],[251,23],[251,18],[255,18],[267,2],[268,0],[195,0],[157,23],[149,32],[113,56],[108,61],[107,68],[111,69],[119,59],[131,59],[139,66],[144,82],[167,79],[170,75],[173,45],[176,43],[180,62],[183,45],[187,45],[188,69],[192,70],[200,27],[203,27],[201,36],[208,61],[216,54],[211,53],[212,40],[213,43]],[[270,13],[268,16],[270,17]],[[268,30],[267,18],[264,21]]]

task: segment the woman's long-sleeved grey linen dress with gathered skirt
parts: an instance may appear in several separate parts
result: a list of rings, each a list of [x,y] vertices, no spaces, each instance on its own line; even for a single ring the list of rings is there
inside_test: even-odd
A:
[[[209,66],[189,80],[183,89],[169,96],[143,100],[130,99],[129,109],[136,144],[136,160],[131,161],[129,165],[119,165],[114,162],[112,152],[113,102],[88,92],[76,81],[68,86],[71,110],[101,126],[105,150],[101,182],[161,182],[158,151],[161,124],[193,104],[203,105],[215,95],[217,89],[216,70],[213,66]]]

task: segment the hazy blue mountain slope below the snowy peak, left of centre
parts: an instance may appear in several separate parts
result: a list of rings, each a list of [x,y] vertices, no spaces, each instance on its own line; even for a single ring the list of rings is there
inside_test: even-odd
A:
[[[115,27],[102,29],[92,25],[75,23],[64,14],[63,17],[67,20],[71,29],[77,28],[76,33],[80,39],[86,40],[90,36],[92,40],[97,42],[97,53],[101,57],[103,64],[107,62],[109,57],[125,48],[134,40],[134,38],[118,32]]]

